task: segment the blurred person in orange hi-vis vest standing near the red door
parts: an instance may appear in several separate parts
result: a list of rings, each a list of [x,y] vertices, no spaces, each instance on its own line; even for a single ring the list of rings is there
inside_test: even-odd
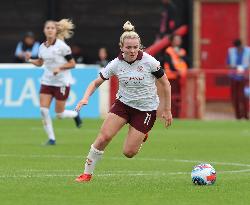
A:
[[[171,84],[172,114],[180,117],[181,80],[186,76],[188,63],[186,50],[181,48],[181,36],[173,35],[170,40],[171,45],[165,49],[163,67]]]

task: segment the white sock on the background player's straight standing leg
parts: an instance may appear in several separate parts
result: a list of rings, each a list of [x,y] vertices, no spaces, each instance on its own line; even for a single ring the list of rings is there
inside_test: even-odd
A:
[[[43,127],[51,140],[56,140],[52,120],[49,115],[49,109],[46,107],[40,107],[41,115],[42,115],[42,121],[43,121]]]

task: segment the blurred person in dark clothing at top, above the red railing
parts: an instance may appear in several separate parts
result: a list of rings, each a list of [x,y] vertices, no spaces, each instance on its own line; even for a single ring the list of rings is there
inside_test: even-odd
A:
[[[175,13],[176,9],[171,0],[162,0],[163,11],[161,13],[160,30],[158,38],[166,34],[171,34],[175,29]]]

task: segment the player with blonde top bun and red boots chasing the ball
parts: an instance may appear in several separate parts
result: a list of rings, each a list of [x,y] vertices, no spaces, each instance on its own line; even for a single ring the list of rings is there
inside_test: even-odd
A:
[[[119,80],[117,100],[103,122],[100,133],[91,145],[85,170],[76,178],[77,182],[91,180],[96,163],[101,159],[104,149],[117,134],[129,123],[129,130],[123,146],[126,157],[132,158],[140,150],[145,135],[151,130],[156,120],[156,110],[159,97],[155,80],[157,79],[164,90],[164,111],[166,127],[171,125],[171,89],[169,81],[160,67],[160,62],[140,50],[141,40],[135,32],[134,26],[127,21],[124,33],[120,37],[121,53],[101,70],[100,76],[88,86],[76,110],[88,104],[89,97],[94,91],[112,75]]]

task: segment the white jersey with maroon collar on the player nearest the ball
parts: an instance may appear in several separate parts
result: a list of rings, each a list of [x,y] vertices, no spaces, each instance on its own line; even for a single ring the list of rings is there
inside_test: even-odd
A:
[[[153,72],[158,71],[160,62],[151,55],[139,52],[132,64],[124,61],[122,55],[101,70],[101,77],[108,79],[116,75],[119,80],[117,98],[124,104],[141,111],[157,110],[159,97]]]

